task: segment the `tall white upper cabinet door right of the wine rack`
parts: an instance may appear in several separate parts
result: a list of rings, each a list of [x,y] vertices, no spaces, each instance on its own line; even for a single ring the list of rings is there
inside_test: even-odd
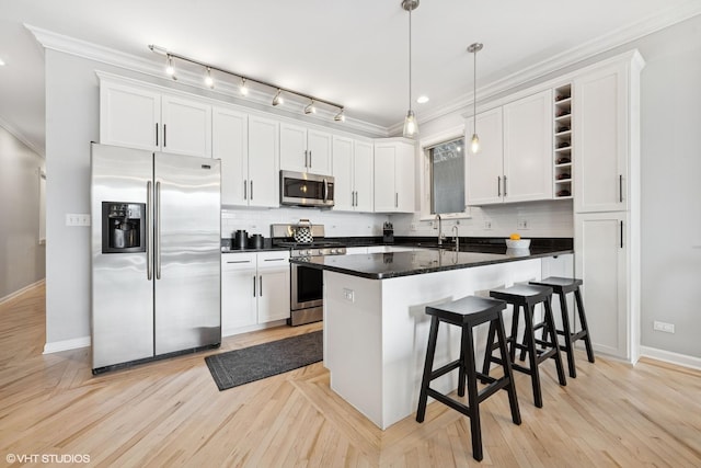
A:
[[[628,209],[630,152],[627,65],[574,80],[574,207],[577,213]]]

